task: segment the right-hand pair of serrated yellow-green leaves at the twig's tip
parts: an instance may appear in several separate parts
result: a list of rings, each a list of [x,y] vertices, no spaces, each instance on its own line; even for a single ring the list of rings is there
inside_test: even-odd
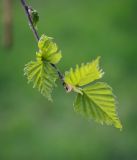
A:
[[[102,78],[103,72],[99,69],[99,57],[91,63],[77,65],[65,73],[65,82],[77,92],[74,109],[81,114],[95,119],[101,124],[114,125],[122,128],[116,114],[116,100],[111,87],[103,82],[90,84]],[[88,85],[90,84],[90,85]],[[81,86],[85,86],[82,87]]]

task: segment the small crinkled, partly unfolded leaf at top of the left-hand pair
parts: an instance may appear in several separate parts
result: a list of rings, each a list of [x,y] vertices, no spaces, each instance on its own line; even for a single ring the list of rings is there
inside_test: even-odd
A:
[[[62,58],[61,51],[58,46],[53,42],[53,38],[42,35],[38,42],[39,52],[37,58],[45,60],[52,64],[57,64]]]

